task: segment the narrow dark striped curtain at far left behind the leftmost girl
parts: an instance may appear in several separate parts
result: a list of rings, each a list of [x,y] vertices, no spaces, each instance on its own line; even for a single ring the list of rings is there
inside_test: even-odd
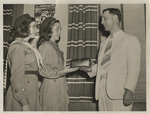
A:
[[[6,90],[6,81],[7,81],[7,52],[10,41],[10,32],[12,27],[12,19],[13,19],[13,5],[12,4],[4,4],[3,5],[3,87],[4,91]]]

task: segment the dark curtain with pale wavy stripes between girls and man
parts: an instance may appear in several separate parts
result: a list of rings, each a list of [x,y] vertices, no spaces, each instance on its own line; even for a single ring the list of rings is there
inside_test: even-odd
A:
[[[90,58],[96,61],[97,4],[69,5],[67,64],[71,59]],[[71,100],[90,100],[94,94],[94,80],[87,73],[77,71],[67,75],[68,94]],[[70,100],[70,101],[71,101]]]

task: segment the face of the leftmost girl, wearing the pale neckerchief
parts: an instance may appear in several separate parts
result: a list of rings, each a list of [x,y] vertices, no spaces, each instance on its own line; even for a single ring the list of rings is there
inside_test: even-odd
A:
[[[35,33],[39,32],[39,30],[36,27],[36,22],[35,21],[30,23],[30,29],[29,30],[30,30],[29,37],[30,38],[35,38]]]

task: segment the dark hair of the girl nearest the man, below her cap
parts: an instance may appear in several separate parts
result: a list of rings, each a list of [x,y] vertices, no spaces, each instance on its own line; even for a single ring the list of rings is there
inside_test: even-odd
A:
[[[52,28],[53,28],[55,23],[60,23],[60,21],[55,20],[55,21],[49,22],[43,30],[40,30],[40,38],[38,40],[38,47],[44,41],[49,41],[49,39],[51,38],[51,35],[52,35]]]

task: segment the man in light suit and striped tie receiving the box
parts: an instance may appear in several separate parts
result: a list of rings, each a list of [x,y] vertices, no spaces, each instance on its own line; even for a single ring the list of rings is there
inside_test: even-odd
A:
[[[135,36],[120,28],[119,9],[103,10],[102,24],[110,36],[101,43],[98,63],[91,69],[81,68],[96,76],[95,98],[99,111],[130,111],[140,72],[141,48]],[[108,46],[110,45],[110,46]]]

